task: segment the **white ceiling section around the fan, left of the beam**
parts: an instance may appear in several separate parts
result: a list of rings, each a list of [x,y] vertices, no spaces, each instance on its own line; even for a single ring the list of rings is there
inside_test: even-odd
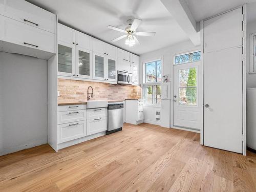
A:
[[[154,37],[139,36],[140,45],[129,48],[124,40],[116,45],[136,54],[157,50],[188,40],[160,0],[28,0],[58,14],[61,23],[111,42],[123,33],[107,29],[112,25],[124,29],[131,17],[142,19],[137,31],[156,32]]]

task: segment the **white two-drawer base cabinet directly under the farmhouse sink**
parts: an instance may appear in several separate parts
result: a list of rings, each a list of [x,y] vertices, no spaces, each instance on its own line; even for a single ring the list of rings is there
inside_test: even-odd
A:
[[[87,110],[87,135],[106,131],[107,110],[106,108]]]

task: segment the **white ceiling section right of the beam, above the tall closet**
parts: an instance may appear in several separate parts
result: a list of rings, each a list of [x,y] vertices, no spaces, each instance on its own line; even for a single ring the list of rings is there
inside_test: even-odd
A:
[[[185,0],[194,19],[200,20],[228,11],[256,0]],[[249,5],[248,5],[249,7]],[[254,12],[256,12],[254,10]]]

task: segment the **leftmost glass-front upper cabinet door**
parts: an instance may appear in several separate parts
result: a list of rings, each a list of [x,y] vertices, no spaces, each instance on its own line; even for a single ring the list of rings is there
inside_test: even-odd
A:
[[[59,42],[58,75],[75,76],[75,46]]]

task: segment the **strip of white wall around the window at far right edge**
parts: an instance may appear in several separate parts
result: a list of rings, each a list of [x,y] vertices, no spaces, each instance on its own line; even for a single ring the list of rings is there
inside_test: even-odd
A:
[[[256,18],[247,23],[247,41],[246,41],[246,87],[256,88],[256,74],[248,74],[250,70],[250,34],[256,33]]]

